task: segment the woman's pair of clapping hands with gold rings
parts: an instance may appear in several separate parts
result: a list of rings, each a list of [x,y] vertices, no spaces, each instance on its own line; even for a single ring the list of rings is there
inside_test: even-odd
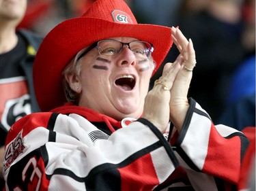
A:
[[[162,133],[169,120],[178,131],[188,111],[188,88],[195,67],[195,50],[191,40],[187,40],[180,29],[172,28],[172,39],[180,55],[174,63],[167,63],[162,76],[156,80],[154,88],[145,98],[143,117],[150,120]]]

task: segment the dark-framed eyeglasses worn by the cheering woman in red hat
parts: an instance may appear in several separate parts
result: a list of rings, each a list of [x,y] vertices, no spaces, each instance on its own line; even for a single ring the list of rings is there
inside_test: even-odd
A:
[[[98,53],[102,56],[115,57],[120,52],[124,50],[124,46],[128,46],[128,48],[133,52],[134,56],[137,60],[145,60],[150,58],[152,52],[154,51],[154,47],[152,44],[145,41],[131,41],[129,43],[124,43],[122,41],[117,41],[115,39],[104,39],[100,41],[96,41],[94,44],[89,46],[85,52],[83,52],[77,60],[81,59],[87,52],[96,48]]]

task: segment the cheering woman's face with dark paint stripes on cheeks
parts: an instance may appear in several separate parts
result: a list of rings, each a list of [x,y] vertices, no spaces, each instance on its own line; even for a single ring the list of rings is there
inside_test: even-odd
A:
[[[137,40],[130,37],[111,39],[123,43]],[[143,112],[153,66],[150,59],[138,61],[126,45],[115,57],[102,56],[93,48],[81,58],[81,73],[70,80],[70,87],[81,94],[80,106],[94,109],[116,120],[139,118]]]

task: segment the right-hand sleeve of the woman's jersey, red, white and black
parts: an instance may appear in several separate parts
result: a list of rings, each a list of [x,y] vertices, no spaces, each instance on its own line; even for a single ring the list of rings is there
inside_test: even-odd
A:
[[[196,190],[231,190],[237,184],[248,139],[235,128],[214,126],[195,100],[173,150]]]

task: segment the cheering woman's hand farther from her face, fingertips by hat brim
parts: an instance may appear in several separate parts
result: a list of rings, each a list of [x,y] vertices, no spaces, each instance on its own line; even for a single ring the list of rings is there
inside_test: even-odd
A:
[[[192,79],[193,69],[196,64],[193,42],[184,37],[180,29],[172,27],[172,39],[180,55],[175,62],[181,65],[179,73],[171,88],[170,120],[178,131],[181,130],[188,111],[188,88]],[[163,71],[165,73],[165,70]]]

